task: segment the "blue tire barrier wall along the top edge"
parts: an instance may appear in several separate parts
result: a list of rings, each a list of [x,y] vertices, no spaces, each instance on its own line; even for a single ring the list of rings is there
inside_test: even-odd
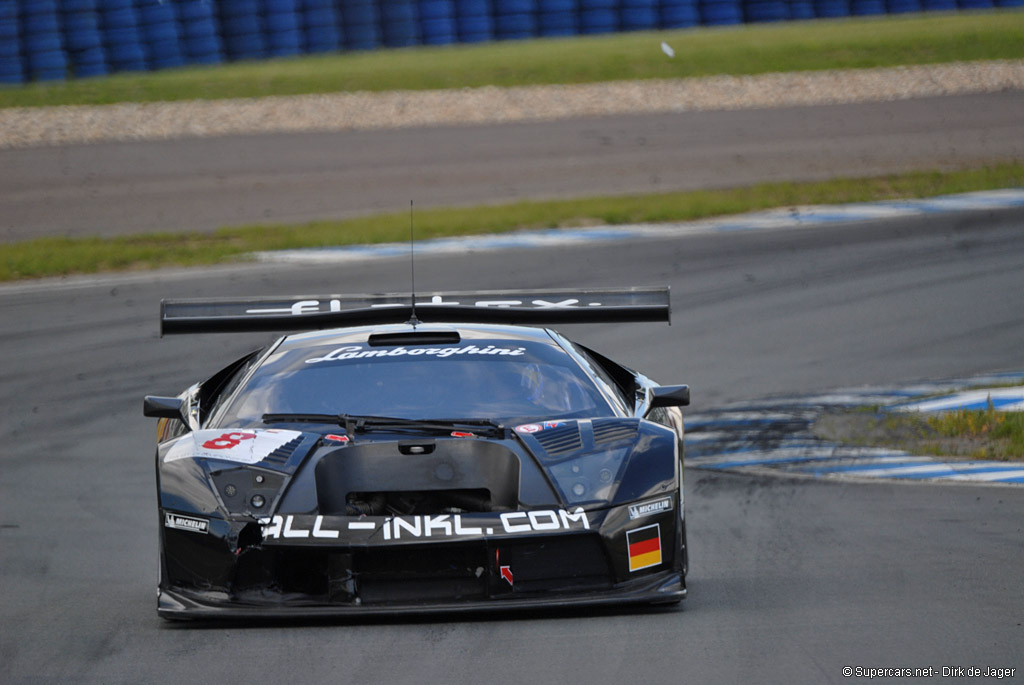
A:
[[[1024,0],[0,0],[0,87],[226,59]]]

